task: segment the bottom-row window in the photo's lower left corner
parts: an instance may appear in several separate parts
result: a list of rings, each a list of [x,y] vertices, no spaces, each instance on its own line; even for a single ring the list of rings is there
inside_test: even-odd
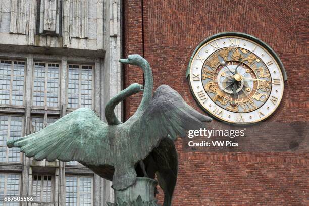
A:
[[[6,196],[20,196],[20,174],[0,173],[0,205],[18,206],[18,201],[4,201]]]

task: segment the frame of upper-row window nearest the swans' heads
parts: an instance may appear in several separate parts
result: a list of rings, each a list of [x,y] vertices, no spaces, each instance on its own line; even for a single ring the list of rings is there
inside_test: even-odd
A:
[[[78,64],[78,63],[67,63],[67,78],[66,78],[66,104],[67,104],[67,110],[68,111],[74,111],[74,110],[77,110],[78,108],[81,108],[81,75],[79,75],[79,91],[78,91],[78,107],[77,108],[69,108],[69,66],[70,65],[78,65],[79,66],[79,71],[80,71],[80,74],[81,74],[81,70],[82,70],[82,66],[91,66],[92,67],[92,85],[91,85],[91,109],[93,110],[94,109],[94,75],[95,75],[95,64]]]

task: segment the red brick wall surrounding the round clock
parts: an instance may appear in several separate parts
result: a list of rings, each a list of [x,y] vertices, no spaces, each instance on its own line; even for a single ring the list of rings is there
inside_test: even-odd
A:
[[[185,76],[189,58],[211,35],[243,32],[269,44],[287,72],[284,101],[267,121],[309,120],[306,1],[125,0],[123,9],[124,56],[144,55],[151,65],[155,88],[170,85],[204,113]],[[125,87],[142,81],[138,68],[125,67]],[[134,114],[140,99],[138,95],[125,101],[125,118]],[[198,154],[184,151],[181,142],[177,149],[179,178],[173,205],[309,204],[307,153]]]

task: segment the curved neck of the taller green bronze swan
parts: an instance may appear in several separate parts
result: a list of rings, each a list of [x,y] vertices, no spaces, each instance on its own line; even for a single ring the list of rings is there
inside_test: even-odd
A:
[[[141,68],[144,72],[144,79],[145,79],[144,94],[135,114],[143,113],[150,104],[150,101],[152,99],[153,77],[150,65],[147,60],[143,61]]]

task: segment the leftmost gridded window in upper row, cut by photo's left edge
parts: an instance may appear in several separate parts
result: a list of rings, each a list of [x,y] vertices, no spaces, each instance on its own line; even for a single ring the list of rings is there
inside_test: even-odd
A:
[[[23,105],[25,62],[0,61],[0,105]]]

